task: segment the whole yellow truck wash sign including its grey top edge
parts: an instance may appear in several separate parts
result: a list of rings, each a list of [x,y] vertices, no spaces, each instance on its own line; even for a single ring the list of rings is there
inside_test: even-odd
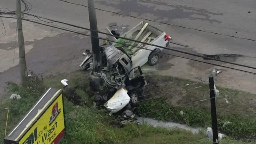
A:
[[[62,93],[49,88],[5,137],[4,144],[57,144],[65,134]]]

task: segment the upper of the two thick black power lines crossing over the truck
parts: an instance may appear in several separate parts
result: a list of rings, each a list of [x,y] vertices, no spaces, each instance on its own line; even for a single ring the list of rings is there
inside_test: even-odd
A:
[[[65,22],[61,22],[61,21],[57,21],[57,20],[53,20],[53,19],[49,19],[49,18],[44,18],[44,17],[41,17],[41,16],[33,15],[33,14],[27,14],[27,13],[24,13],[24,14],[34,16],[34,17],[38,18],[39,20],[41,20],[40,18],[42,18],[42,19],[46,19],[46,20],[51,21],[51,22],[47,22],[47,21],[41,20],[43,22],[47,22],[47,23],[56,22],[56,23],[61,23],[61,24],[72,26],[72,27],[77,27],[77,28],[80,28],[80,29],[85,29],[85,30],[90,30],[91,31],[91,29],[89,29],[89,28],[85,28],[85,27],[81,27],[81,26],[77,26],[77,25],[73,25],[73,24],[69,24],[69,23],[65,23]],[[92,30],[92,31],[96,31],[96,30]],[[133,40],[133,39],[129,39],[129,38],[121,37],[121,36],[116,36],[116,35],[112,35],[112,34],[101,32],[101,31],[97,31],[97,32],[101,33],[101,34],[105,34],[105,35],[114,36],[114,37],[118,37],[118,38],[121,38],[121,39],[129,40],[129,41],[134,41],[134,42],[145,44],[145,45],[151,45],[151,46],[155,46],[155,47],[159,47],[159,48],[163,48],[163,49],[183,53],[183,54],[188,54],[188,55],[192,55],[192,56],[196,56],[196,57],[211,59],[211,60],[224,62],[224,63],[229,63],[229,64],[233,64],[233,65],[238,65],[238,66],[242,66],[242,67],[247,67],[247,68],[251,68],[251,69],[256,69],[255,67],[251,67],[251,66],[247,66],[247,65],[237,64],[237,63],[233,63],[233,62],[227,62],[227,61],[215,59],[215,58],[212,58],[212,57],[202,56],[202,55],[193,54],[193,53],[185,52],[185,51],[180,51],[180,50],[176,50],[176,49],[172,49],[172,48],[167,48],[167,47],[163,47],[163,46],[159,46],[159,45],[155,45],[155,44],[151,44],[151,43],[141,42],[141,41],[138,41],[138,40]]]

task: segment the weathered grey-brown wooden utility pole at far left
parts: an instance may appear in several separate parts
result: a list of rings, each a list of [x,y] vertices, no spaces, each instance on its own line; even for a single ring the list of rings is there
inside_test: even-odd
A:
[[[20,0],[16,0],[16,16],[17,16],[17,30],[18,30],[18,41],[19,41],[19,57],[20,57],[20,81],[21,85],[26,83],[27,79],[27,68],[25,60],[25,48],[24,48],[24,38],[22,32],[21,23],[21,4]]]

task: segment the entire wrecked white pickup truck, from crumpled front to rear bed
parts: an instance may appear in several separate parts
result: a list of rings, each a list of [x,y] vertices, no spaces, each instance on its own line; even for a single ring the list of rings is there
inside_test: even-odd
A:
[[[145,63],[157,64],[160,59],[158,52],[163,49],[121,39],[115,30],[107,28],[107,32],[113,36],[108,36],[109,41],[104,41],[104,45],[100,46],[101,71],[93,72],[93,54],[90,50],[83,53],[85,59],[80,67],[89,70],[93,77],[100,78],[99,83],[94,85],[97,88],[94,92],[96,105],[104,104],[110,115],[117,113],[129,121],[129,118],[135,116],[131,109],[142,99],[147,85],[140,67]],[[144,22],[140,22],[121,37],[164,47],[172,39],[165,32]]]

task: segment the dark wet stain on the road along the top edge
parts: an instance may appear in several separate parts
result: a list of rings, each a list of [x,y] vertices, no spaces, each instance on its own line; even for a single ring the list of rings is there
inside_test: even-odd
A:
[[[160,1],[138,1],[138,0],[123,0],[123,1],[106,1],[100,0],[97,3],[110,6],[117,10],[117,13],[131,14],[136,13],[138,16],[143,16],[143,14],[151,14],[155,16],[155,20],[164,20],[168,18],[172,19],[192,19],[192,20],[202,20],[208,21],[210,23],[216,22],[221,23],[216,19],[212,19],[211,15],[222,15],[221,13],[212,13],[203,9],[195,9],[192,7],[178,6],[178,5],[168,5],[167,3]],[[163,6],[168,5],[169,9]],[[197,17],[195,17],[197,16]],[[151,18],[152,19],[152,18]]]

